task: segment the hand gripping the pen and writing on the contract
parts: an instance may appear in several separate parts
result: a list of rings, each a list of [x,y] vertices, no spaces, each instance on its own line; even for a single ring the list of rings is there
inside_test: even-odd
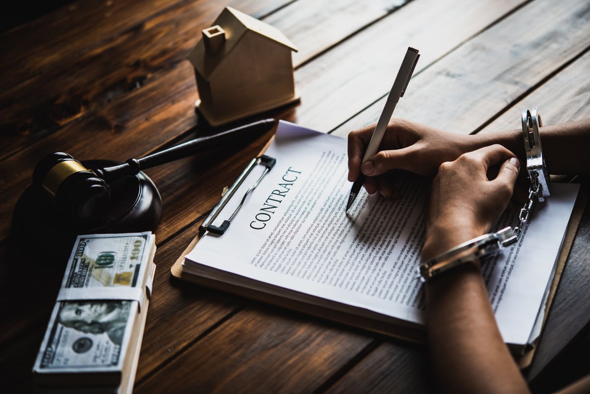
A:
[[[379,191],[387,198],[395,193],[395,173],[390,170],[434,176],[441,163],[455,160],[473,147],[471,136],[393,119],[381,142],[382,150],[361,166],[374,129],[375,125],[348,134],[348,180],[354,182],[362,171],[367,176],[365,189],[371,194]]]

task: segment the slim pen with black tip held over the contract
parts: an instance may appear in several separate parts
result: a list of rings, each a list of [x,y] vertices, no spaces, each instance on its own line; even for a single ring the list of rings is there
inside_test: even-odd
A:
[[[418,54],[417,49],[408,48],[404,60],[402,61],[402,65],[399,67],[398,75],[396,75],[394,84],[391,87],[391,91],[389,92],[389,96],[385,101],[385,106],[383,107],[381,116],[379,116],[377,126],[373,131],[371,141],[369,141],[369,146],[367,147],[365,156],[363,157],[363,163],[366,162],[369,157],[372,157],[375,155],[375,153],[377,153],[379,145],[381,145],[381,140],[383,139],[383,134],[385,134],[389,120],[394,113],[395,104],[398,103],[399,97],[404,97],[405,90],[408,87],[409,78],[412,77],[412,73],[414,72],[416,63],[418,63],[419,57],[420,55]],[[364,182],[365,175],[360,173],[359,178],[355,180],[355,182],[352,184],[352,189],[350,189],[348,202],[346,203],[346,212],[348,212],[350,206],[352,206],[352,203],[355,202],[356,196],[360,191],[360,187]]]

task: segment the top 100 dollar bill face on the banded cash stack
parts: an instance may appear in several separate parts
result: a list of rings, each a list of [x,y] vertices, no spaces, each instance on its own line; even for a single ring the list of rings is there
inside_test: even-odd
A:
[[[96,287],[143,288],[148,269],[153,265],[154,251],[151,233],[78,237],[62,288],[81,288],[90,297]],[[117,384],[136,328],[137,314],[138,303],[129,300],[57,302],[34,372],[44,375],[46,379],[42,380],[50,384],[62,379],[47,379],[49,375],[73,373],[68,382],[60,383],[78,385],[81,383],[77,380],[83,376],[89,383],[89,377],[100,375],[101,384]],[[110,379],[106,372],[112,372]]]

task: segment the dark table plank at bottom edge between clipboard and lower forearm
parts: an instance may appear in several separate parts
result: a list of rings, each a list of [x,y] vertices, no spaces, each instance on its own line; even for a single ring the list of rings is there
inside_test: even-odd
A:
[[[395,371],[395,373],[392,373]],[[409,343],[385,342],[334,383],[327,393],[436,392],[427,350]]]

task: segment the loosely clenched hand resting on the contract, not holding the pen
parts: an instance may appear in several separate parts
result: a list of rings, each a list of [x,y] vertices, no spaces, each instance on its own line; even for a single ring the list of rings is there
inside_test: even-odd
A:
[[[506,209],[519,170],[519,160],[501,145],[442,163],[432,180],[422,259],[489,232]]]

